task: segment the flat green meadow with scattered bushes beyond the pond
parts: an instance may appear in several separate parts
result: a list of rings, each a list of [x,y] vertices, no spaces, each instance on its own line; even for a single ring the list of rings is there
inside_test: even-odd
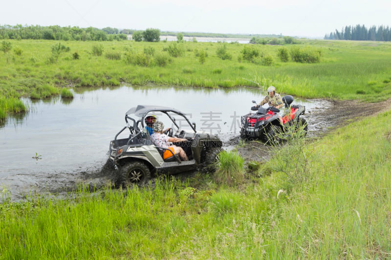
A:
[[[40,99],[58,95],[64,87],[121,83],[261,88],[274,85],[278,92],[304,98],[342,100],[376,101],[391,96],[390,42],[301,40],[301,44],[284,46],[224,42],[3,42],[11,45],[8,52],[0,52],[3,115],[18,111],[3,105],[9,98]],[[245,46],[259,57],[243,58]],[[217,56],[217,50],[223,47],[230,60]],[[296,47],[319,51],[320,61],[280,60],[280,48],[290,51]],[[173,53],[180,56],[171,56],[170,48],[176,48]],[[200,53],[205,55],[203,62]]]

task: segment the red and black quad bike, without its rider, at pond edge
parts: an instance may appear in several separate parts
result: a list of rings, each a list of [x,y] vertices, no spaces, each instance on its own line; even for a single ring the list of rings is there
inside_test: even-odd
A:
[[[272,142],[279,137],[278,133],[284,132],[285,126],[294,125],[297,129],[301,126],[304,132],[307,132],[307,121],[300,117],[305,112],[305,106],[291,105],[293,97],[288,95],[282,98],[284,102],[284,114],[282,115],[282,124],[279,117],[280,110],[273,106],[263,108],[253,106],[251,110],[257,113],[249,113],[241,117],[240,138],[244,140],[261,139],[264,142]],[[253,100],[253,103],[257,103]]]

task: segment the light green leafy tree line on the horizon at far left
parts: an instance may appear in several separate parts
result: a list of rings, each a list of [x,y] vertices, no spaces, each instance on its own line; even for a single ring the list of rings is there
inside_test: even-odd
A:
[[[0,25],[0,39],[8,40],[127,40],[127,34],[134,30],[125,29],[119,31],[116,28],[106,27],[98,29],[94,27],[79,28],[61,27],[58,25],[40,26],[17,24]]]

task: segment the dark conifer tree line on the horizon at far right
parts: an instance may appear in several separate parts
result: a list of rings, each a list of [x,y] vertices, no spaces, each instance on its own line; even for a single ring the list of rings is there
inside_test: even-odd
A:
[[[371,26],[369,29],[365,25],[357,24],[355,26],[345,26],[341,31],[337,29],[335,32],[325,35],[325,40],[376,40],[376,41],[391,41],[391,28],[380,25]]]

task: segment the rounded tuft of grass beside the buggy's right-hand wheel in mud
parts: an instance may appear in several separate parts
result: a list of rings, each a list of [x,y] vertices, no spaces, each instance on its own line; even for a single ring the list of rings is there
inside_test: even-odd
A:
[[[213,179],[217,183],[228,185],[241,182],[244,178],[243,163],[244,159],[236,152],[222,151],[218,156],[218,169]]]

